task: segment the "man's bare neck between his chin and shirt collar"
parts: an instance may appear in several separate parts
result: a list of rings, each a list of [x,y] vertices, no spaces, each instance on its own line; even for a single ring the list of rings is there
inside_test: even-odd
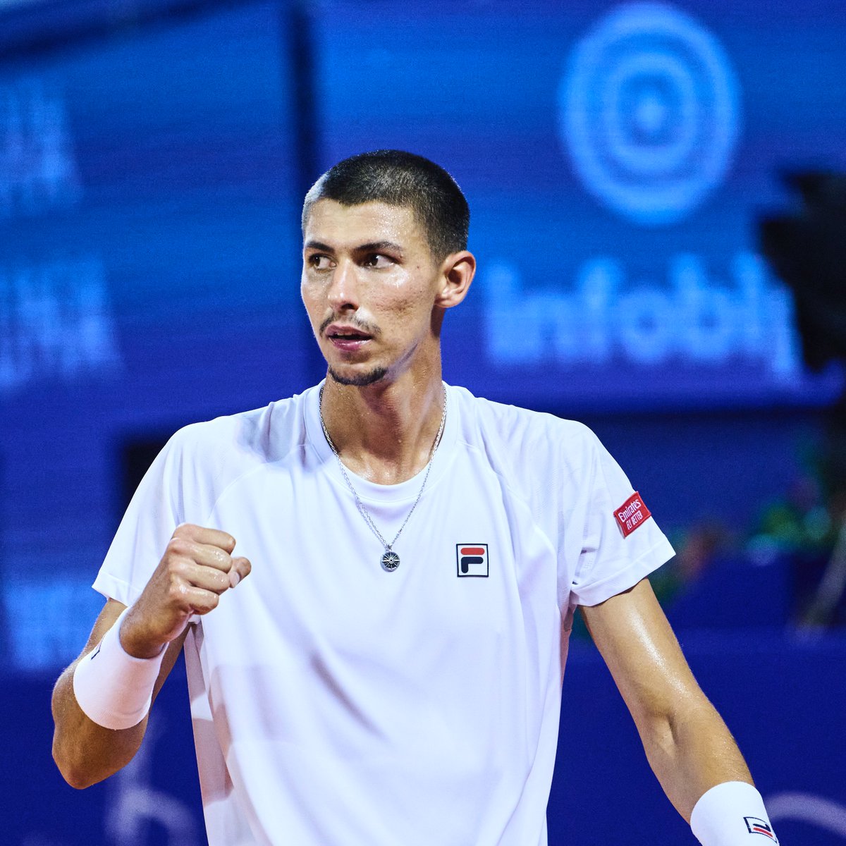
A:
[[[342,385],[327,376],[321,411],[349,470],[377,484],[396,485],[428,464],[444,402],[440,368],[422,380],[415,374],[414,380],[366,387]]]

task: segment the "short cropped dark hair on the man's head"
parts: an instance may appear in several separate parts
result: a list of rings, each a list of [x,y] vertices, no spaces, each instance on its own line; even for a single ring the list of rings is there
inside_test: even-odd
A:
[[[440,165],[415,153],[376,150],[338,162],[305,195],[304,232],[311,206],[319,200],[334,200],[343,206],[382,202],[409,208],[437,261],[467,249],[470,206],[464,194]]]

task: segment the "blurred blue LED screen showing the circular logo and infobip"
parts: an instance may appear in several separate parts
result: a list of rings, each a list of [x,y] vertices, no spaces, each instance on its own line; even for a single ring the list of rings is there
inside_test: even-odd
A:
[[[846,167],[842,4],[322,8],[324,163],[409,149],[470,200],[449,380],[565,411],[836,393],[803,370],[756,217],[787,201],[780,169]]]

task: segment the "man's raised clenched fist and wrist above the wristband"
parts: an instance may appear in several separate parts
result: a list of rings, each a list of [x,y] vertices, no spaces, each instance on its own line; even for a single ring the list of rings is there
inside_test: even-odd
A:
[[[250,574],[233,558],[235,539],[224,531],[185,523],[173,532],[162,560],[120,629],[129,655],[151,658],[182,634],[192,614],[207,614],[220,596]]]

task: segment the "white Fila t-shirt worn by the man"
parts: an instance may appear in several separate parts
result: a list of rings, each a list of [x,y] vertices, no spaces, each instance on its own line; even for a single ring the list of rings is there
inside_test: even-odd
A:
[[[543,846],[572,609],[673,549],[653,519],[624,536],[632,487],[585,426],[448,387],[388,573],[318,388],[177,432],[94,585],[135,602],[184,522],[250,558],[185,641],[210,846]],[[350,478],[392,539],[422,475]]]

